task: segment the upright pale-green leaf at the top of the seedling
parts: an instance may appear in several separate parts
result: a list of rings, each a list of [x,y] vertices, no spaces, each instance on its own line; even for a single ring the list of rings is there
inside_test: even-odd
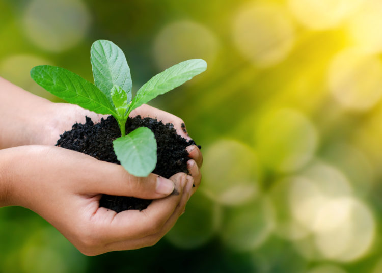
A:
[[[108,97],[113,86],[120,86],[131,101],[131,75],[121,48],[107,40],[97,40],[90,49],[95,85]]]

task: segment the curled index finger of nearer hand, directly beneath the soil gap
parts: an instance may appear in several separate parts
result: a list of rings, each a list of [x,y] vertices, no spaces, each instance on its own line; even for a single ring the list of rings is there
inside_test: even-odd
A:
[[[98,233],[103,234],[109,242],[141,238],[157,233],[177,208],[187,181],[184,173],[178,173],[171,179],[176,184],[176,193],[167,198],[154,200],[142,211],[125,210],[113,213],[100,209],[100,214],[97,215],[99,219],[107,218],[111,213],[114,217],[109,223],[101,224]],[[108,215],[101,215],[102,213],[108,213]]]

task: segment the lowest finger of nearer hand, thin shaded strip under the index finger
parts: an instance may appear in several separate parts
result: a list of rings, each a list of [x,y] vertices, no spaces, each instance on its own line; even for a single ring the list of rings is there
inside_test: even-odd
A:
[[[174,210],[173,214],[169,217],[162,228],[155,234],[147,235],[145,237],[135,239],[135,240],[125,240],[119,242],[113,242],[107,244],[105,248],[106,251],[115,251],[115,250],[129,250],[129,249],[139,249],[143,247],[149,247],[157,243],[163,236],[165,236],[172,227],[176,224],[179,216],[183,214],[187,201],[191,196],[191,190],[193,188],[194,179],[191,176],[187,176],[187,183],[184,188],[183,196]],[[187,190],[188,189],[188,190]]]

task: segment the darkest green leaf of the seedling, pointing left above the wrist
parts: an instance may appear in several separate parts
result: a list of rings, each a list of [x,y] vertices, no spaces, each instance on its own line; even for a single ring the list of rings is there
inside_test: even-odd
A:
[[[35,66],[31,77],[47,91],[69,103],[99,114],[116,115],[114,106],[101,90],[69,70],[49,65]]]

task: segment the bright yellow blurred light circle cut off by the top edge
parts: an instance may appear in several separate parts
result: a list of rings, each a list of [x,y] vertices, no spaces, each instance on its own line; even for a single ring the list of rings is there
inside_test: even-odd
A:
[[[310,29],[330,29],[341,24],[363,0],[288,0],[296,19]]]

